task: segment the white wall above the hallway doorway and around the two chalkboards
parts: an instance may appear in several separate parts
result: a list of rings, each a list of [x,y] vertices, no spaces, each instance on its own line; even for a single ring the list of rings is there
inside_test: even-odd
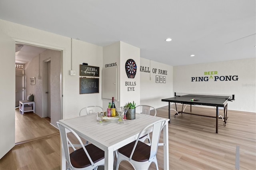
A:
[[[101,88],[100,93],[79,94],[79,65],[88,63],[92,66],[98,66],[101,72],[102,47],[73,39],[71,60],[71,38],[5,20],[0,20],[0,32],[3,32],[18,42],[63,50],[61,75],[63,82],[63,119],[78,116],[82,107],[95,104],[102,105]],[[15,56],[13,57],[14,60]],[[70,75],[71,67],[76,71],[75,76]],[[101,84],[101,75],[99,79],[99,83]]]

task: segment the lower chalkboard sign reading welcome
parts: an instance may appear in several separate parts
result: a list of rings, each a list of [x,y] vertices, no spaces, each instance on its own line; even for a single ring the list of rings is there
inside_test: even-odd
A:
[[[80,94],[99,93],[99,79],[80,77]]]

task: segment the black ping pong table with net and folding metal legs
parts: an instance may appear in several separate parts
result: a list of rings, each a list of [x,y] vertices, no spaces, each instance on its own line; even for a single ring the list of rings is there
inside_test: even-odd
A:
[[[176,110],[174,110],[176,115],[179,115],[179,113],[185,113],[190,115],[197,115],[197,116],[204,116],[204,117],[212,117],[216,118],[216,133],[218,133],[218,119],[222,118],[222,121],[224,122],[224,126],[228,123],[228,117],[227,117],[227,111],[228,111],[228,101],[234,101],[235,95],[200,95],[200,94],[186,94],[186,95],[176,95],[176,92],[174,93],[174,97],[162,99],[162,101],[166,101],[169,103],[169,123],[170,123],[170,111],[174,110],[170,108],[170,105],[172,103],[175,103]],[[182,104],[182,110],[178,111],[176,103]],[[190,112],[185,112],[186,106],[184,108],[184,105],[190,105]],[[201,115],[197,113],[192,113],[192,105],[204,105],[204,106],[213,106],[216,107],[216,116],[211,115]],[[224,117],[219,116],[219,107],[224,108]],[[184,108],[184,109],[183,109]]]

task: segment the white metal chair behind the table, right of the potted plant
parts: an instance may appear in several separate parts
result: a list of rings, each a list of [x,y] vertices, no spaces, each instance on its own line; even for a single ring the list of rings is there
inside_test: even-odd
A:
[[[149,106],[149,105],[138,105],[138,106],[136,106],[136,112],[137,113],[142,113],[142,114],[145,114],[145,115],[156,116],[156,109],[152,106]],[[150,143],[149,134],[146,134],[146,135],[140,137],[140,141],[142,141],[142,142],[144,142],[146,139],[148,139],[148,143]]]

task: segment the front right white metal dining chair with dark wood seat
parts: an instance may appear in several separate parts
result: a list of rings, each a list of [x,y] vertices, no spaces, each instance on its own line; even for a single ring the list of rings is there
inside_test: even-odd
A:
[[[161,119],[150,125],[144,127],[139,136],[143,135],[149,128],[153,128],[152,139],[150,144],[146,144],[140,141],[138,136],[137,140],[119,148],[117,153],[117,164],[116,170],[118,170],[119,164],[121,161],[126,160],[130,162],[135,170],[146,170],[149,168],[150,164],[154,162],[156,169],[158,170],[158,163],[156,159],[156,153],[158,149],[158,142],[160,138],[160,132],[166,120]]]

